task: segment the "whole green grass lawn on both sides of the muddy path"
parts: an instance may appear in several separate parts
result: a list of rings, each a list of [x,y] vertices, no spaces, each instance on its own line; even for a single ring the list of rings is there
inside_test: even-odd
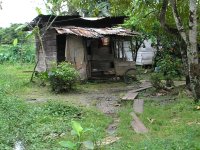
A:
[[[71,120],[83,128],[95,128],[96,133],[83,139],[96,140],[106,137],[106,128],[112,117],[86,105],[87,92],[99,92],[109,88],[126,87],[123,83],[86,83],[68,94],[53,94],[49,87],[29,83],[30,64],[0,65],[0,149],[13,149],[16,141],[22,141],[28,150],[63,149],[58,142],[73,140]],[[122,103],[117,113],[120,122],[116,131],[121,139],[102,149],[113,150],[197,150],[200,149],[200,111],[184,90],[178,94],[156,98],[148,96],[152,90],[140,93],[145,100],[144,113],[138,115],[149,129],[147,134],[136,134],[131,128],[132,103]],[[122,92],[118,93],[122,95]],[[28,102],[27,99],[47,99]],[[170,101],[167,98],[172,99]]]

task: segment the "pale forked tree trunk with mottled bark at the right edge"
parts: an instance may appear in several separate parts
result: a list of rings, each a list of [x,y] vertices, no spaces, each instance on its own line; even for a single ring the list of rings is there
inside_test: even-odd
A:
[[[182,39],[187,45],[187,60],[188,60],[188,72],[190,79],[190,89],[192,90],[195,101],[200,99],[200,67],[198,61],[197,51],[197,0],[189,1],[189,34],[187,35],[184,30],[184,26],[181,22],[181,18],[178,14],[176,0],[170,0],[173,16],[176,23],[176,27],[181,35]]]

